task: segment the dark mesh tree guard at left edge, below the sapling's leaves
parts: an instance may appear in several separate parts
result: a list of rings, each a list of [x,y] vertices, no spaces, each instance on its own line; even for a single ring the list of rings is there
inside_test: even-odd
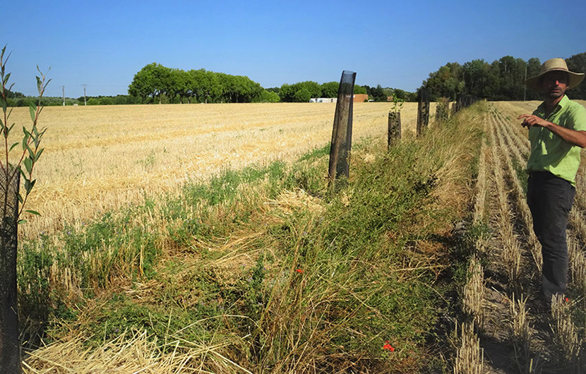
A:
[[[16,294],[16,247],[18,241],[18,187],[20,173],[9,181],[0,168],[0,368],[2,373],[20,373],[18,300]]]

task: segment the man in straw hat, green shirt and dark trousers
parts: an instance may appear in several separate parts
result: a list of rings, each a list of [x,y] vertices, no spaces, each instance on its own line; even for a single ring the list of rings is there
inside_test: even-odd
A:
[[[527,204],[533,230],[542,244],[543,270],[540,296],[551,305],[551,296],[564,294],[568,278],[566,225],[575,196],[575,176],[580,148],[586,147],[586,109],[566,96],[584,73],[568,71],[566,61],[544,62],[527,87],[542,92],[544,102],[533,114],[522,114],[529,128],[531,155],[527,161]]]

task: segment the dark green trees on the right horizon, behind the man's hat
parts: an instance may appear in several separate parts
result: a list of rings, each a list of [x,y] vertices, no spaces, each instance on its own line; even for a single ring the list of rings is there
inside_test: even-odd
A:
[[[586,52],[566,59],[570,71],[586,72]],[[420,90],[429,92],[431,99],[460,95],[489,100],[541,99],[539,92],[525,89],[525,79],[539,74],[542,62],[537,58],[525,61],[513,56],[504,56],[492,64],[483,59],[472,60],[463,65],[451,62],[429,74]],[[568,91],[573,99],[586,99],[586,84]]]

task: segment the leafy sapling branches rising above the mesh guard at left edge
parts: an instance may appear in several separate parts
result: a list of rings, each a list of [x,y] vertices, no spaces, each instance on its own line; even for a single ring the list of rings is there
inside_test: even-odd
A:
[[[40,71],[39,66],[37,65],[37,71],[40,74],[40,76],[37,76],[37,90],[39,92],[39,99],[37,105],[31,103],[29,107],[32,127],[28,129],[25,126],[23,126],[23,139],[16,143],[10,144],[8,137],[9,135],[11,135],[13,127],[16,123],[10,123],[12,108],[8,109],[8,92],[12,90],[14,83],[8,85],[8,79],[10,78],[11,73],[6,73],[6,62],[8,61],[10,54],[8,54],[8,56],[6,56],[5,59],[5,52],[6,46],[4,46],[4,48],[2,48],[2,51],[0,52],[0,80],[2,82],[0,91],[0,102],[2,104],[3,112],[3,116],[0,119],[0,132],[2,134],[2,137],[4,137],[4,155],[0,154],[0,174],[4,174],[2,175],[1,179],[6,181],[6,186],[10,186],[10,183],[14,181],[17,174],[20,173],[20,176],[24,181],[23,186],[25,191],[24,197],[22,193],[18,193],[18,201],[20,203],[18,217],[21,217],[23,212],[29,212],[33,215],[39,215],[39,213],[35,212],[34,210],[23,209],[25,207],[26,200],[28,198],[28,195],[30,194],[30,191],[32,191],[32,188],[35,186],[36,180],[32,179],[35,164],[41,157],[42,152],[44,150],[44,148],[40,147],[40,144],[44,132],[47,131],[47,128],[42,128],[41,130],[39,130],[39,128],[37,127],[37,123],[39,121],[39,116],[42,111],[42,95],[44,94],[45,88],[47,88],[47,84],[49,84],[51,80],[47,80],[47,78]],[[14,149],[17,148],[19,145],[22,147],[22,152],[14,151]],[[4,191],[4,196],[2,196],[2,198],[4,198],[4,201],[2,202],[4,203],[4,217],[6,217],[6,209],[8,203],[8,188],[6,188],[6,190]]]

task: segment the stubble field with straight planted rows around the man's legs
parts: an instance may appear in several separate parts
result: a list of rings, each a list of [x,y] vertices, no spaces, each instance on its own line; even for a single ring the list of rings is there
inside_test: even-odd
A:
[[[485,283],[484,289],[480,289],[478,285],[482,282],[472,282],[474,272],[469,270],[470,282],[465,291],[475,289],[478,297],[462,295],[465,311],[472,314],[477,324],[480,346],[484,349],[484,373],[581,373],[585,365],[585,327],[575,316],[583,315],[585,299],[582,273],[586,230],[582,222],[586,215],[586,163],[582,161],[578,171],[577,195],[568,225],[570,298],[554,302],[554,308],[548,310],[537,298],[542,254],[532,231],[524,191],[530,144],[527,129],[517,120],[538,104],[489,103],[484,120],[489,146],[481,151],[486,164],[479,167],[476,210],[486,211],[487,215],[478,213],[475,222],[484,221],[490,233],[477,243],[478,253],[484,259],[481,281]],[[582,158],[585,156],[582,153]],[[491,170],[490,176],[486,169]],[[489,202],[484,206],[486,197]]]

